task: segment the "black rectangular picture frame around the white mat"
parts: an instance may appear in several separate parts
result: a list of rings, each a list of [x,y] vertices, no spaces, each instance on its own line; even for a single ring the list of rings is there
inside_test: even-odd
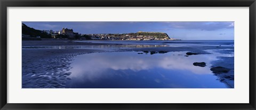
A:
[[[255,0],[1,0],[1,109],[256,109]],[[7,7],[250,7],[250,103],[248,104],[13,104],[7,103]]]

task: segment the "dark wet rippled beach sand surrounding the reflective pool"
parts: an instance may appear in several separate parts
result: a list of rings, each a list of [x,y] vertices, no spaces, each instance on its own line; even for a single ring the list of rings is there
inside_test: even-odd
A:
[[[33,46],[58,46],[58,45],[122,45],[109,43],[77,43],[71,40],[42,40],[22,41],[22,47]],[[105,49],[27,49],[22,48],[22,88],[65,88],[68,76],[72,69],[70,61],[79,54],[106,51],[189,51],[198,54],[210,54],[209,49],[234,49],[234,47],[149,47],[149,48],[125,48],[118,47],[115,50]],[[233,50],[234,51],[234,50]],[[186,54],[185,54],[186,55]],[[212,67],[229,68],[228,73],[214,74],[219,81],[229,88],[234,88],[234,57],[222,57],[212,62]]]

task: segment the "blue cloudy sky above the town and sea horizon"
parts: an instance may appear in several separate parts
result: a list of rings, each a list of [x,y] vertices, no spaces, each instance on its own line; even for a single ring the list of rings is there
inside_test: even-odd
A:
[[[37,30],[72,28],[81,34],[164,32],[181,40],[234,40],[234,22],[22,22]]]

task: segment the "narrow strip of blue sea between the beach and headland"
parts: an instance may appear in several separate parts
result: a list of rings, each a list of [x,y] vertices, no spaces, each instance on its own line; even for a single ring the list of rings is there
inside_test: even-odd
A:
[[[129,49],[152,47],[234,47],[234,40],[175,40],[175,41],[112,41],[112,40],[83,40],[73,42],[102,43],[102,45],[51,45],[23,46],[22,49]]]

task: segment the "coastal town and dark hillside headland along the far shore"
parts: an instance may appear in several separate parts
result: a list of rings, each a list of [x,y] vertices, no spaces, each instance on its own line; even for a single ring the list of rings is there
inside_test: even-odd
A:
[[[22,23],[22,40],[30,39],[78,39],[78,40],[179,40],[170,38],[162,32],[136,33],[101,33],[101,34],[81,34],[74,32],[72,28],[63,27],[62,30],[36,30]]]

